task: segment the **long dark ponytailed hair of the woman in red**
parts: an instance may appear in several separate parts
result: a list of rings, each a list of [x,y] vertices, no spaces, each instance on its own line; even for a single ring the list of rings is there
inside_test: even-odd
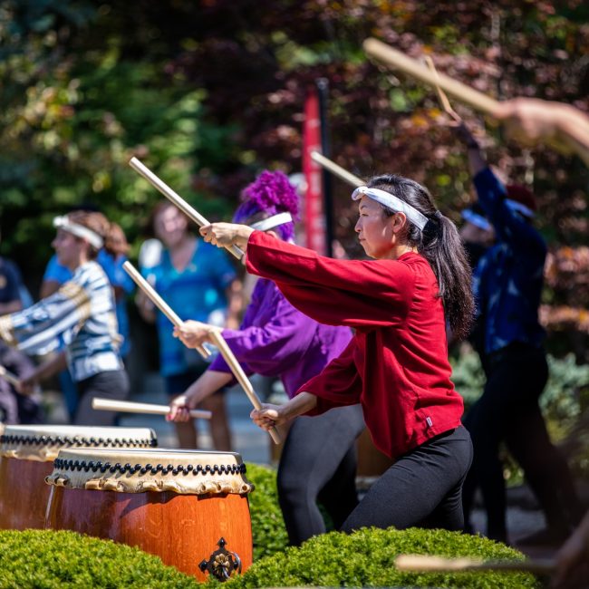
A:
[[[438,279],[439,296],[452,333],[465,337],[472,323],[474,301],[470,266],[458,229],[436,208],[429,190],[414,180],[383,174],[372,178],[367,186],[390,192],[428,217],[423,230],[408,219],[407,240],[428,260]],[[383,210],[387,217],[395,214],[390,208],[383,207]]]

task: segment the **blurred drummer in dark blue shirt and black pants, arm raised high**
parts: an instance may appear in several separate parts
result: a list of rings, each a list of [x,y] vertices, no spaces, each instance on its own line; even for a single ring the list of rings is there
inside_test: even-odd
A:
[[[480,332],[477,351],[487,382],[465,419],[475,449],[464,485],[466,529],[471,531],[468,518],[479,487],[488,537],[507,542],[506,490],[499,459],[499,444],[505,441],[546,515],[545,530],[517,543],[558,544],[578,524],[582,509],[538,404],[548,367],[542,346],[545,332],[538,321],[546,243],[533,226],[536,199],[526,187],[499,181],[468,127],[461,123],[457,130],[468,148],[478,205],[495,232],[495,243],[480,258],[473,279]]]

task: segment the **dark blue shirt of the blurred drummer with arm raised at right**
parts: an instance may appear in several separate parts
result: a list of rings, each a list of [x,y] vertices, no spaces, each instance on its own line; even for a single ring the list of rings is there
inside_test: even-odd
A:
[[[484,330],[484,352],[509,343],[539,346],[545,331],[538,322],[544,284],[546,243],[531,223],[507,207],[507,190],[486,168],[474,178],[478,202],[497,234],[473,275],[477,314]]]

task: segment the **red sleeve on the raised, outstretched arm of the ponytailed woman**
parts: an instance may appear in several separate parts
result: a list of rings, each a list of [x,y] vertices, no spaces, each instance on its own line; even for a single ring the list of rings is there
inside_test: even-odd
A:
[[[249,237],[247,271],[275,281],[285,297],[320,323],[356,329],[399,325],[415,277],[396,260],[334,260],[261,231]]]

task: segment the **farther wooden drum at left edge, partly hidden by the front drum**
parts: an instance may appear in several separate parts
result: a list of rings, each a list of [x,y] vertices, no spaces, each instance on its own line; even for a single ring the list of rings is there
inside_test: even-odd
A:
[[[43,529],[51,488],[45,478],[63,448],[151,448],[148,428],[5,426],[0,436],[0,529]]]

